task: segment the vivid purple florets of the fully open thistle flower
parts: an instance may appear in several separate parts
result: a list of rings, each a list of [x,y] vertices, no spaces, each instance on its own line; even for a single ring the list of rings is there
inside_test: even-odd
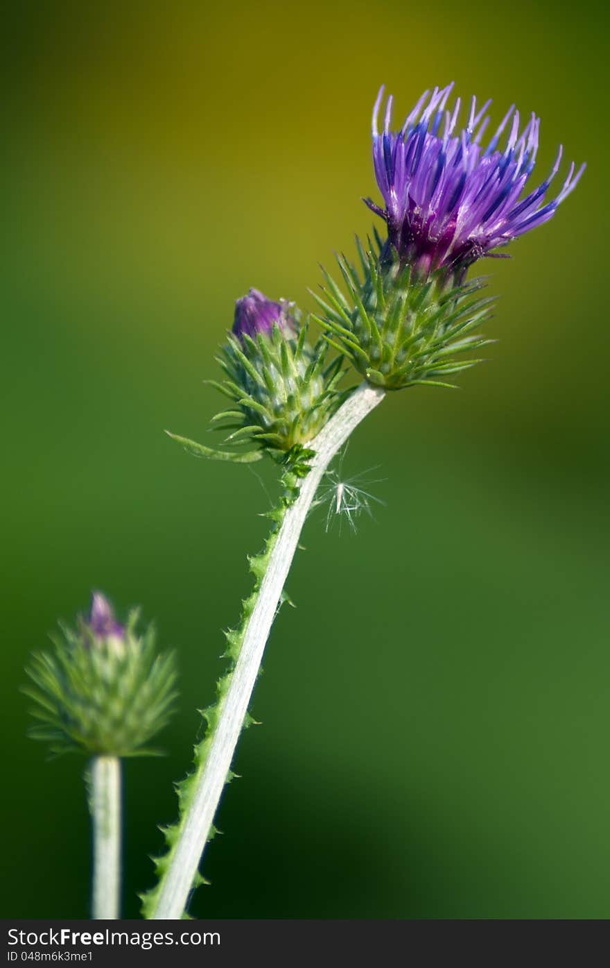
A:
[[[385,209],[366,204],[388,224],[388,236],[402,262],[421,275],[445,267],[458,278],[477,258],[547,222],[576,187],[585,166],[574,175],[572,163],[559,194],[544,201],[562,159],[560,146],[549,176],[520,199],[536,163],[539,118],[535,114],[519,133],[519,112],[511,106],[485,148],[490,101],[477,109],[473,98],[465,129],[455,132],[460,99],[446,109],[453,84],[420,98],[398,132],[391,131],[392,95],[383,132],[377,120],[382,86],[373,108],[373,164]],[[514,113],[513,113],[514,112]],[[505,130],[504,151],[498,148]]]

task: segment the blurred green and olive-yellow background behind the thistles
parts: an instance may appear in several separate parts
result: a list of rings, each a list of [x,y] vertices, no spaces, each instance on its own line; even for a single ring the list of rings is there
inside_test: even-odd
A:
[[[499,344],[463,389],[392,396],[344,472],[385,478],[357,536],[305,530],[191,912],[610,914],[608,136],[604,8],[395,0],[6,8],[4,916],[86,917],[83,761],[25,739],[30,650],[105,590],[179,650],[181,711],[126,769],[127,915],[151,883],[249,589],[273,469],[196,461],[203,378],[249,286],[312,307],[376,194],[386,81],[542,116],[589,169],[490,261]],[[603,262],[602,262],[603,259]],[[258,466],[257,466],[258,469]]]

